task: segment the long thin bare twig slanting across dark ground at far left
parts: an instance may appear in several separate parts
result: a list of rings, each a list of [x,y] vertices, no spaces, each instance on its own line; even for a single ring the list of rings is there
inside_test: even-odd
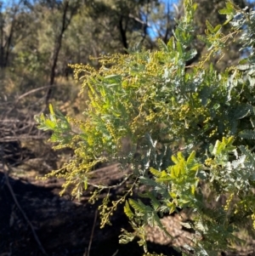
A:
[[[13,188],[12,188],[12,186],[11,186],[10,183],[9,183],[8,174],[7,174],[7,170],[5,169],[5,167],[7,167],[7,168],[9,169],[8,165],[3,163],[3,174],[4,174],[4,176],[5,176],[5,182],[6,182],[6,185],[8,186],[8,190],[10,191],[11,196],[13,197],[14,202],[15,202],[17,208],[19,208],[20,213],[22,213],[24,219],[26,219],[27,224],[31,227],[31,231],[32,231],[32,233],[33,233],[33,236],[35,237],[35,240],[36,240],[36,242],[37,242],[37,244],[38,244],[40,250],[42,251],[42,253],[43,253],[44,255],[48,256],[48,253],[46,253],[46,251],[45,251],[44,248],[42,247],[42,243],[40,242],[40,240],[39,240],[39,238],[38,238],[38,236],[37,236],[36,230],[34,229],[33,225],[31,224],[31,221],[28,219],[28,217],[26,216],[26,213],[25,213],[25,212],[23,211],[23,209],[20,207],[20,203],[18,202],[17,197],[16,197],[15,194],[14,194]]]

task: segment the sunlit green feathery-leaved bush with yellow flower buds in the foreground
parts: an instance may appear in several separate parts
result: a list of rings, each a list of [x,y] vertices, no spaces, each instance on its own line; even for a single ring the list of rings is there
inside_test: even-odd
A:
[[[227,17],[224,24],[213,27],[207,21],[206,35],[199,36],[207,54],[199,64],[186,66],[196,54],[191,48],[196,5],[191,0],[184,4],[174,37],[167,44],[159,41],[159,50],[103,56],[99,70],[73,65],[81,94],[88,94],[84,120],[65,117],[51,105],[50,114],[36,120],[39,128],[52,131],[55,149],[74,150],[63,168],[47,175],[64,177],[64,191],[72,185],[79,198],[92,185],[94,202],[101,191],[128,184],[122,197],[111,202],[108,196],[99,207],[103,227],[125,204],[134,232],[122,230],[120,242],[138,236],[146,252],[144,226],[159,225],[171,237],[161,216],[189,208],[191,219],[181,224],[193,230],[190,244],[176,249],[184,255],[218,255],[255,219],[255,12],[227,2],[220,10]],[[222,32],[226,24],[228,34]],[[210,60],[220,61],[234,41],[241,45],[243,60],[219,73]],[[128,151],[123,138],[130,139]],[[105,161],[131,172],[121,184],[92,184],[94,165]],[[133,191],[140,185],[145,189],[137,200]]]

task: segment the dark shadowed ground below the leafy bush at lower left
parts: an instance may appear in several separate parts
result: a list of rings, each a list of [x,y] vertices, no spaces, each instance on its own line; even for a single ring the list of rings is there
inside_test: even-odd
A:
[[[115,166],[105,168],[105,173],[115,182],[120,178]],[[113,225],[100,229],[99,216],[94,226],[100,202],[89,204],[88,194],[82,196],[81,202],[72,200],[68,195],[60,197],[62,182],[57,179],[38,181],[34,178],[16,178],[13,175],[7,178],[0,171],[0,256],[143,255],[143,248],[137,242],[127,245],[118,243],[120,230],[130,227],[122,207],[111,219]],[[14,202],[14,197],[22,211]],[[169,244],[157,244],[153,239],[148,242],[148,247],[150,252],[180,255]]]

